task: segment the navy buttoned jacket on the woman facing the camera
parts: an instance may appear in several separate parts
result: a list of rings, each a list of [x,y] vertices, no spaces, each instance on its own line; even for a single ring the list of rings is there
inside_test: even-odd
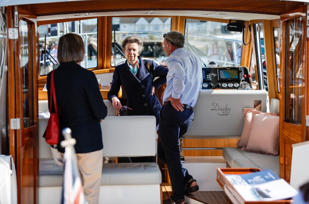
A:
[[[138,56],[141,64],[139,64],[136,76],[132,73],[127,62],[118,65],[113,74],[111,88],[107,94],[109,100],[117,97],[120,86],[123,85],[127,93],[127,115],[153,115],[161,109],[159,99],[155,94],[151,95],[152,86],[159,89],[161,85],[166,83],[166,75],[168,69],[159,66],[155,61],[152,61],[154,68],[154,77],[159,77],[152,82],[150,71],[145,67],[145,61]]]

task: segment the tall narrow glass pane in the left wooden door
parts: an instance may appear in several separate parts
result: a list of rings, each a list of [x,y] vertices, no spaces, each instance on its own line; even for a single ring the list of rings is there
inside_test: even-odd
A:
[[[29,127],[34,123],[33,104],[33,61],[32,61],[32,27],[34,25],[26,20],[20,21],[21,51],[20,66],[22,70],[22,103],[23,103],[23,126]]]

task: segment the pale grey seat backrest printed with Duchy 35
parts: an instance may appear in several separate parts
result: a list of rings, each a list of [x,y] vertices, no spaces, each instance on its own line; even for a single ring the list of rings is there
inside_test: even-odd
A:
[[[194,121],[184,136],[240,136],[243,109],[261,103],[266,112],[265,90],[202,90],[193,107]]]

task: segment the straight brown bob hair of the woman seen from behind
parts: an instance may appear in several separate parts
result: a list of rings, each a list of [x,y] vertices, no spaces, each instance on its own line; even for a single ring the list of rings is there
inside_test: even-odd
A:
[[[62,35],[58,42],[57,58],[59,63],[81,62],[85,56],[83,38],[75,33]]]

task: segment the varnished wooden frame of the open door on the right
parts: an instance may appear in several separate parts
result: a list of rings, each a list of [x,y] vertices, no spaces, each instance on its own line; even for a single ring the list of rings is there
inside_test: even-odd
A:
[[[291,173],[291,163],[292,163],[292,144],[306,141],[306,129],[305,125],[306,119],[305,116],[308,115],[308,108],[305,103],[308,102],[308,96],[306,95],[306,86],[308,85],[308,67],[306,60],[306,48],[308,47],[308,39],[306,37],[306,16],[307,16],[307,5],[300,6],[295,10],[291,10],[283,15],[281,15],[281,39],[280,39],[280,177],[285,179],[287,182],[290,182],[290,173]],[[305,87],[302,89],[302,95],[305,96],[305,100],[302,100],[302,107],[306,111],[302,111],[302,122],[301,124],[296,123],[286,123],[286,23],[292,19],[302,17],[303,18],[303,68],[305,68]],[[289,135],[290,133],[290,135]],[[291,136],[293,135],[293,136]],[[290,136],[290,137],[286,137]]]

